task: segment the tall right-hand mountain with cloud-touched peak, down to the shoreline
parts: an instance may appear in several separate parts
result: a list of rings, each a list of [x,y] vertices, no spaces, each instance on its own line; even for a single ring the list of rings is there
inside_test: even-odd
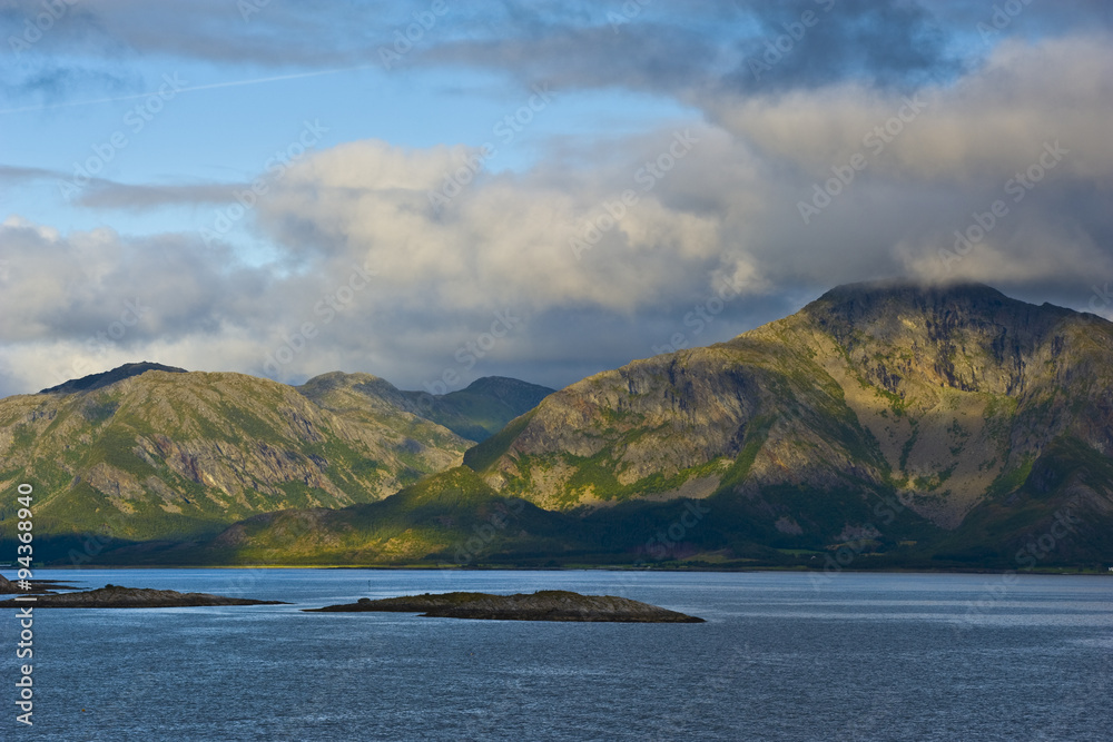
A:
[[[502,502],[529,523],[469,560],[1094,567],[1113,558],[1113,325],[982,285],[843,286],[549,395],[464,463],[321,515],[299,558],[452,563]],[[279,558],[270,523],[234,526],[226,555]]]

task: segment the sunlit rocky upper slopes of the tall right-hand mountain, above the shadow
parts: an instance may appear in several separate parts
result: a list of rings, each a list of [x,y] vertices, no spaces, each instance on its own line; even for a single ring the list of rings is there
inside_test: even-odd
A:
[[[733,493],[795,532],[784,493],[856,491],[956,528],[1054,441],[1113,454],[1111,380],[1113,325],[1092,315],[978,285],[853,285],[573,384],[465,463],[548,508]]]

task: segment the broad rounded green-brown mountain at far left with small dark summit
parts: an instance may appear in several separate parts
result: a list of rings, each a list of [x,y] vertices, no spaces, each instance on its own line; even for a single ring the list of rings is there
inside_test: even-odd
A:
[[[183,538],[260,512],[371,502],[472,445],[368,397],[331,408],[240,374],[131,364],[56,389],[0,400],[0,482],[33,484],[37,543]],[[13,513],[0,504],[9,538]]]

